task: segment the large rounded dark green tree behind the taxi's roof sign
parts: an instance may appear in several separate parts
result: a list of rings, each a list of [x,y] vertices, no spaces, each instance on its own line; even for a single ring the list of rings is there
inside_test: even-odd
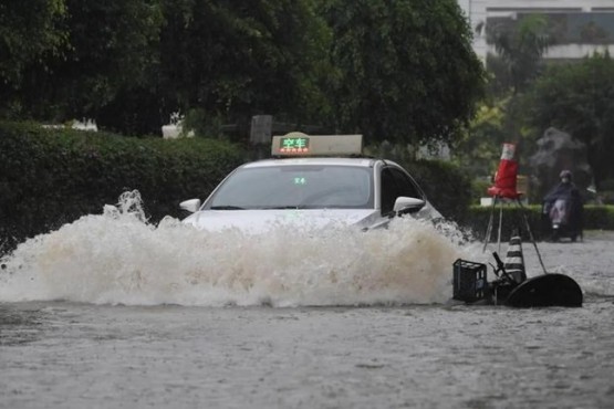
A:
[[[333,30],[337,127],[367,141],[454,141],[473,115],[483,67],[455,0],[324,0]]]

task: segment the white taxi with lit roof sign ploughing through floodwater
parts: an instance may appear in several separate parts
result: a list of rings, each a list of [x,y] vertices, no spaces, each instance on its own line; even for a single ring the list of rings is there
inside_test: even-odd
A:
[[[362,156],[362,135],[273,136],[272,159],[244,164],[211,195],[183,201],[184,223],[263,232],[279,224],[386,227],[397,216],[441,217],[397,164]]]

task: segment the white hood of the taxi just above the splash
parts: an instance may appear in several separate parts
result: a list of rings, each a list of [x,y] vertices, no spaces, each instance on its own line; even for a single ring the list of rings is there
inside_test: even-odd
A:
[[[283,210],[200,210],[184,223],[207,231],[239,229],[260,233],[273,227],[326,228],[333,226],[357,226],[375,228],[383,224],[378,211],[371,209],[283,209]]]

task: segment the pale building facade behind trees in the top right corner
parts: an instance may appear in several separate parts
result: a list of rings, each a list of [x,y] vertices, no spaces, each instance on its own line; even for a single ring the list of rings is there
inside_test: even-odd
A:
[[[581,59],[595,51],[614,55],[614,0],[458,0],[473,30],[473,50],[486,62],[495,48],[487,41],[493,24],[513,24],[543,14],[555,38],[545,59]]]

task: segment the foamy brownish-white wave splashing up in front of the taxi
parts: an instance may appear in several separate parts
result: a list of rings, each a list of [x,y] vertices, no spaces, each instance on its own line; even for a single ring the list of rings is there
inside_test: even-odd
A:
[[[275,227],[264,234],[144,221],[138,195],[6,256],[0,302],[127,305],[373,305],[451,297],[454,227],[412,218],[388,229]],[[470,258],[471,255],[469,255]],[[466,256],[465,256],[466,258]]]

